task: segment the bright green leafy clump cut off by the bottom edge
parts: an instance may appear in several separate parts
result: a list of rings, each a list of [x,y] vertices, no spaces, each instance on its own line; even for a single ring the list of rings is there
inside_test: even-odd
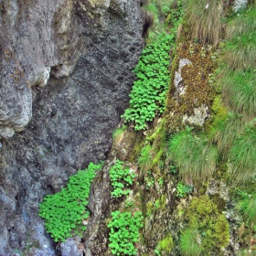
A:
[[[112,212],[112,220],[108,224],[110,228],[110,244],[113,255],[137,255],[134,243],[139,239],[139,229],[143,225],[143,214],[136,211]]]

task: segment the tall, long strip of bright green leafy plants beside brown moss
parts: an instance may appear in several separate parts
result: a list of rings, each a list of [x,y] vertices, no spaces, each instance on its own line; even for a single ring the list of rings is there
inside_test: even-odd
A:
[[[156,2],[153,2],[154,12],[158,8]],[[167,1],[164,2],[169,5]],[[170,35],[161,32],[154,42],[148,43],[134,69],[137,79],[133,82],[130,107],[122,117],[126,123],[133,122],[136,131],[146,129],[148,122],[152,122],[157,114],[165,111],[165,94],[170,81],[169,51],[175,46],[176,30],[180,21],[179,11],[179,15],[174,17]]]

